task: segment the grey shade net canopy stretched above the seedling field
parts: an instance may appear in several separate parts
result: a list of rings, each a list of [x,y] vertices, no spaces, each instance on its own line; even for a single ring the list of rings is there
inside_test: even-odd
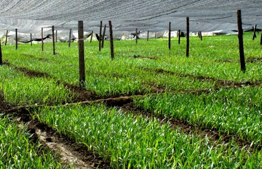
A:
[[[83,20],[84,31],[99,33],[100,21],[112,21],[113,33],[127,31],[159,32],[237,30],[236,10],[242,13],[243,29],[262,27],[262,0],[0,0],[0,30],[20,33],[77,30]]]

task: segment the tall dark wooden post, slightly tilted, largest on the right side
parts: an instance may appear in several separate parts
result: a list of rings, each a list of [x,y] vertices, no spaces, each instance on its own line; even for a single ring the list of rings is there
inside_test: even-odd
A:
[[[241,71],[243,73],[245,73],[241,10],[237,10],[236,13],[237,13],[237,27],[238,27],[238,43],[239,43],[240,65],[241,65]]]

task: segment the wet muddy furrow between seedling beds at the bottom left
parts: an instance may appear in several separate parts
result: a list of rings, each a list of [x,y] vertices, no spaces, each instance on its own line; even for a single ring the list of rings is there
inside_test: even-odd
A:
[[[58,134],[49,126],[32,120],[29,112],[14,117],[18,123],[25,123],[27,131],[31,134],[31,141],[40,141],[48,150],[59,154],[59,160],[65,166],[74,165],[74,169],[111,169],[110,162],[105,162],[101,157],[88,152],[83,145],[76,144],[69,137]]]

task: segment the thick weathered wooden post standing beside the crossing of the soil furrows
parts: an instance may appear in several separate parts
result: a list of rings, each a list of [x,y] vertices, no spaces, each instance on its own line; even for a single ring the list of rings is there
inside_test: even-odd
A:
[[[78,21],[78,53],[79,53],[79,85],[83,86],[85,81],[84,71],[84,43],[83,43],[83,21]]]

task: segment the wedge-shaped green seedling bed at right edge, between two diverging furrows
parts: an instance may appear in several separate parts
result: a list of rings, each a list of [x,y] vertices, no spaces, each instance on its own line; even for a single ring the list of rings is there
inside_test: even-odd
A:
[[[262,145],[261,86],[220,89],[208,94],[160,94],[135,98],[134,105],[155,116],[235,135]]]

